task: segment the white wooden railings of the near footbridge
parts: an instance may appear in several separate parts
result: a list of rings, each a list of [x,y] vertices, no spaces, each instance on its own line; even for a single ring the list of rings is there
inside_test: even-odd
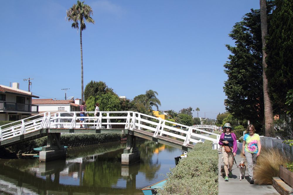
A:
[[[42,113],[34,117],[11,122],[0,126],[0,141],[18,137],[23,134],[34,132],[44,128],[66,128],[77,129],[81,125],[93,129],[112,129],[112,125],[123,125],[125,130],[149,130],[154,133],[153,137],[171,136],[174,139],[183,141],[183,146],[190,143],[201,142],[201,139],[207,139],[213,142],[213,148],[217,149],[220,139],[219,134],[211,133],[195,127],[188,127],[176,122],[163,120],[153,116],[132,111],[99,112],[98,117],[91,116],[94,112],[85,112],[87,116],[81,117],[80,112],[59,112],[51,114]],[[63,115],[63,116],[62,116]],[[80,122],[84,119],[84,122]],[[173,127],[173,126],[177,126]],[[7,127],[10,126],[10,127]],[[217,138],[210,138],[195,131],[215,135]],[[194,139],[194,137],[200,139]]]

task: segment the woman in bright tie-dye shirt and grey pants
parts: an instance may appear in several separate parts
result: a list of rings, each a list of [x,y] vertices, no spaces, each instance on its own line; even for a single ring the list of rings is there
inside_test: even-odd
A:
[[[246,157],[250,183],[253,184],[253,167],[256,165],[257,157],[260,154],[260,137],[255,133],[253,125],[248,125],[246,134],[243,137],[242,154]]]

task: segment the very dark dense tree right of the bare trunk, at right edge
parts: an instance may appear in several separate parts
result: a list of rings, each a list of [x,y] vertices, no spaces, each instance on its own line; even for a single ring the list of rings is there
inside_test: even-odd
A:
[[[266,74],[274,111],[281,114],[289,110],[286,96],[293,89],[293,2],[276,0],[275,4],[266,44]]]

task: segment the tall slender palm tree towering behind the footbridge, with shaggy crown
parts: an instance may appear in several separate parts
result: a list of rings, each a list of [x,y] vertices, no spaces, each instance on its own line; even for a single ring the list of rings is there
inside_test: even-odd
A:
[[[91,18],[91,14],[93,14],[93,10],[91,6],[84,4],[84,1],[77,1],[77,4],[73,4],[69,10],[66,11],[67,20],[73,21],[71,24],[72,28],[79,29],[80,31],[80,56],[81,56],[81,102],[84,101],[84,67],[82,61],[82,31],[86,29],[86,24],[84,21],[88,23],[95,23],[93,18]],[[79,27],[79,23],[80,27]]]

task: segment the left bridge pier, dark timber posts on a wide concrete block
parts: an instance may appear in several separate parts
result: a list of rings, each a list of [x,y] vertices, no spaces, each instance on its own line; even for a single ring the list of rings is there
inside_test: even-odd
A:
[[[41,162],[66,159],[66,148],[60,144],[60,136],[61,133],[48,133],[47,146],[43,146],[42,151],[40,151],[39,160]],[[53,139],[56,141],[56,145],[53,144]]]

